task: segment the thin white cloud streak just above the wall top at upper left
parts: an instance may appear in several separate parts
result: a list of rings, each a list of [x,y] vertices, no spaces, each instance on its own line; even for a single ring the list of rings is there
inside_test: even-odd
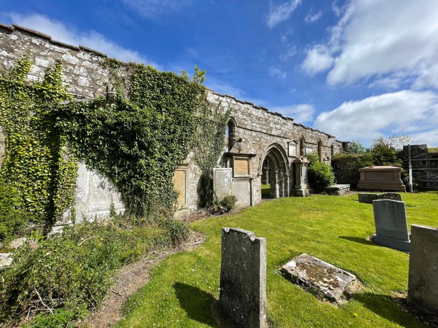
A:
[[[12,13],[8,16],[12,20],[12,23],[49,34],[54,40],[73,46],[82,45],[103,52],[107,54],[108,57],[114,57],[124,61],[137,61],[138,63],[144,63],[152,65],[157,69],[162,69],[160,65],[152,63],[138,51],[124,48],[96,31],[78,31],[64,25],[58,20],[50,19],[40,14],[21,15]]]

